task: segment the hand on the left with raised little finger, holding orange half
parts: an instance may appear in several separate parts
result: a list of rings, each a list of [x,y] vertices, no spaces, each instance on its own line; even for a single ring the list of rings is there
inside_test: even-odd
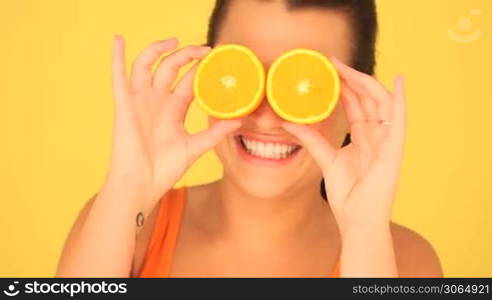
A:
[[[125,42],[121,36],[114,39],[115,122],[111,164],[103,189],[131,195],[139,202],[139,211],[149,212],[198,157],[241,125],[237,119],[222,120],[201,133],[186,132],[184,120],[194,98],[197,66],[174,83],[181,67],[204,58],[210,48],[175,50],[177,46],[174,38],[148,46],[135,59],[128,79]],[[170,51],[174,52],[152,73],[156,61]]]

